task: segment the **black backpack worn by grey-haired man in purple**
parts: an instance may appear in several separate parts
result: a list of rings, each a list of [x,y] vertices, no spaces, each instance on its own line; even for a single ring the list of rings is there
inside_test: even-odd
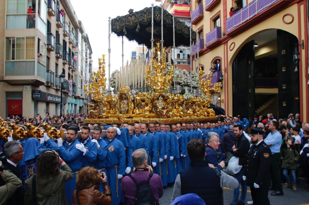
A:
[[[146,182],[137,183],[137,181],[129,175],[129,177],[132,179],[132,181],[135,183],[136,186],[136,195],[135,195],[135,204],[136,205],[154,205],[155,203],[155,197],[150,189],[150,179],[153,176],[153,173],[150,172],[148,180]],[[140,188],[141,185],[146,184],[145,187]]]

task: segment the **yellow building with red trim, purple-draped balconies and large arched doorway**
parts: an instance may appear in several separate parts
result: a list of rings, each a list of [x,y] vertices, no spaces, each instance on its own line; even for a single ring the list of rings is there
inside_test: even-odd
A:
[[[215,66],[223,78],[212,98],[226,115],[300,113],[308,122],[307,1],[197,0],[191,7],[204,71]]]

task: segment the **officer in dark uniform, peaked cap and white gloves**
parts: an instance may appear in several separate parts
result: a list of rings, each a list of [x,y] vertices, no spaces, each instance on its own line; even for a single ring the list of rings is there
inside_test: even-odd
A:
[[[271,151],[263,141],[264,132],[251,128],[252,146],[248,152],[248,161],[243,180],[247,180],[254,205],[268,205],[268,190],[270,187],[270,156]]]

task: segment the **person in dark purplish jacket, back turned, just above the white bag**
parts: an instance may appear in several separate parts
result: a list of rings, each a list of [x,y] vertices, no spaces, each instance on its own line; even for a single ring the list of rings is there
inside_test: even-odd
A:
[[[231,149],[236,144],[236,138],[233,129],[234,125],[230,125],[229,130],[224,133],[221,140],[222,153],[226,157],[227,162],[232,158],[233,154],[231,153]]]

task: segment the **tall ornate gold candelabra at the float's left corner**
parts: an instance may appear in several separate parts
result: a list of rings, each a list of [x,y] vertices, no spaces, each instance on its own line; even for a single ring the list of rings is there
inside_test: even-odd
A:
[[[95,99],[95,101],[102,100],[103,90],[106,89],[105,54],[102,54],[102,58],[98,58],[98,60],[99,71],[96,74],[94,72],[91,72],[91,83],[89,84],[89,88],[87,88],[87,85],[84,86],[85,94],[93,94],[93,98]]]

